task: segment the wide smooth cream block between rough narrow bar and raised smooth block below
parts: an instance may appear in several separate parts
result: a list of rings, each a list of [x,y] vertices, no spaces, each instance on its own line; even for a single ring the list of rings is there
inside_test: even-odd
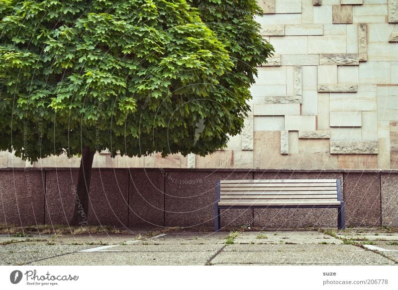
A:
[[[331,111],[375,111],[377,96],[375,92],[330,93]]]

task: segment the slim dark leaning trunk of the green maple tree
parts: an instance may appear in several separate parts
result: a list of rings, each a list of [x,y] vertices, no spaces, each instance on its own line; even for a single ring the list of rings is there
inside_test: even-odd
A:
[[[89,192],[91,181],[91,169],[95,151],[91,151],[89,147],[84,147],[82,159],[80,161],[80,169],[78,176],[78,184],[76,186],[75,210],[73,212],[72,226],[87,226],[89,213]]]

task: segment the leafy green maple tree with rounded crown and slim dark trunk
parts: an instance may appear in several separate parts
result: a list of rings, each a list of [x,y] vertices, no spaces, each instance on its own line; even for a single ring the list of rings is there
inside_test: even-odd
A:
[[[260,12],[256,0],[1,1],[0,149],[81,155],[82,224],[96,151],[204,156],[240,133],[273,51]]]

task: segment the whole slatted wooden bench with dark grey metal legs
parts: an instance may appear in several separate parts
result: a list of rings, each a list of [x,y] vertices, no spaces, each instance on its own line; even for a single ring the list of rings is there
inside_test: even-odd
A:
[[[338,208],[338,228],[345,227],[340,179],[218,180],[216,232],[220,209],[229,208]]]

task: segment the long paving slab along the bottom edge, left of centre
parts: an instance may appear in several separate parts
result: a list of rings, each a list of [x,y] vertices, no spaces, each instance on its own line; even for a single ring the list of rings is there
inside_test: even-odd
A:
[[[148,265],[148,266],[181,266],[205,265],[215,252],[130,252],[121,253],[73,253],[50,258],[28,265]]]

